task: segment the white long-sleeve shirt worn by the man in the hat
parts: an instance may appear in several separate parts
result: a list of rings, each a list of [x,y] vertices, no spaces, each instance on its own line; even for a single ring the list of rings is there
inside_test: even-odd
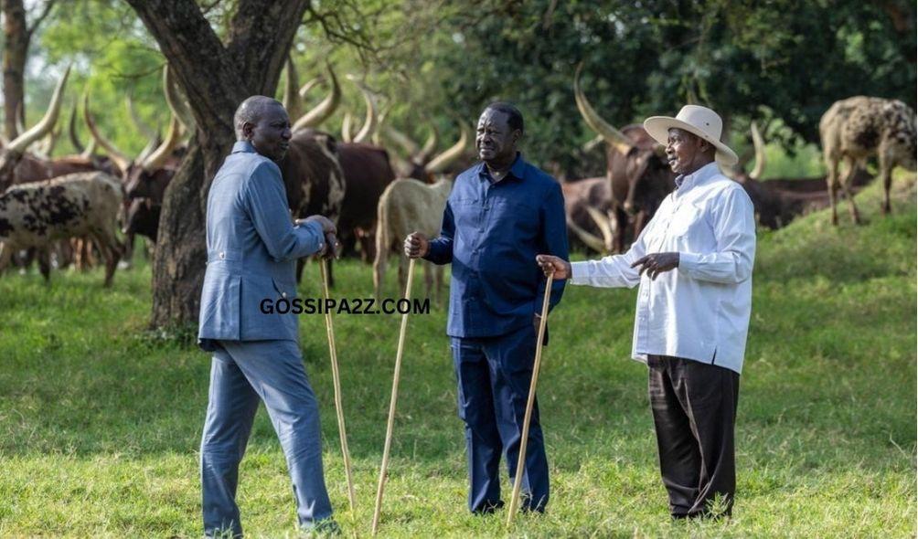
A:
[[[743,187],[716,163],[677,179],[654,218],[628,252],[574,262],[571,284],[640,284],[632,357],[675,356],[741,372],[749,313],[756,221]],[[632,263],[644,255],[678,252],[677,270],[651,281]]]

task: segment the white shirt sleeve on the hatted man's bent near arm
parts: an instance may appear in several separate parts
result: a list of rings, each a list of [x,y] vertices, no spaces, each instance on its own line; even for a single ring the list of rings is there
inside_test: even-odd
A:
[[[752,275],[756,258],[756,216],[749,195],[741,187],[730,189],[711,212],[716,250],[679,253],[679,273],[720,283],[743,282]]]

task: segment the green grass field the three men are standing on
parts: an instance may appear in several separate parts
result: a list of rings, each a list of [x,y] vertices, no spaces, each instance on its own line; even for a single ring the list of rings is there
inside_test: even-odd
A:
[[[669,521],[646,369],[628,359],[635,292],[568,287],[540,379],[552,501],[543,516],[521,515],[510,535],[914,537],[914,177],[895,189],[886,218],[877,185],[858,195],[863,227],[843,208],[838,229],[823,212],[759,236],[729,522]],[[306,275],[301,294],[318,296],[317,266]],[[365,266],[340,264],[337,276],[336,294],[372,292]],[[0,536],[200,536],[209,358],[143,331],[148,267],[119,272],[113,290],[99,271],[52,279],[0,278]],[[444,319],[440,305],[410,321],[381,536],[506,535],[505,513],[465,511]],[[398,317],[335,319],[355,514],[323,319],[300,320],[332,503],[346,536],[368,536]],[[292,536],[284,458],[263,411],[241,468],[247,534]]]

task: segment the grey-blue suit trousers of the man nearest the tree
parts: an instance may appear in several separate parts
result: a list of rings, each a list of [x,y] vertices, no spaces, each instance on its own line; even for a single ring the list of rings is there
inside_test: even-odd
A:
[[[284,449],[300,527],[331,516],[322,474],[319,404],[296,341],[218,341],[201,439],[204,531],[242,534],[239,463],[263,401]]]

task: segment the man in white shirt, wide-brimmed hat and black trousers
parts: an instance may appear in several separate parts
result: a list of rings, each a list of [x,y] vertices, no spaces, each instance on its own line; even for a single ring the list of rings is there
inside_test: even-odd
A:
[[[753,204],[723,176],[736,154],[721,117],[687,105],[644,122],[666,145],[676,190],[628,252],[570,263],[536,257],[547,274],[596,287],[640,285],[633,358],[649,368],[660,471],[673,518],[730,515],[733,424],[752,304]]]

